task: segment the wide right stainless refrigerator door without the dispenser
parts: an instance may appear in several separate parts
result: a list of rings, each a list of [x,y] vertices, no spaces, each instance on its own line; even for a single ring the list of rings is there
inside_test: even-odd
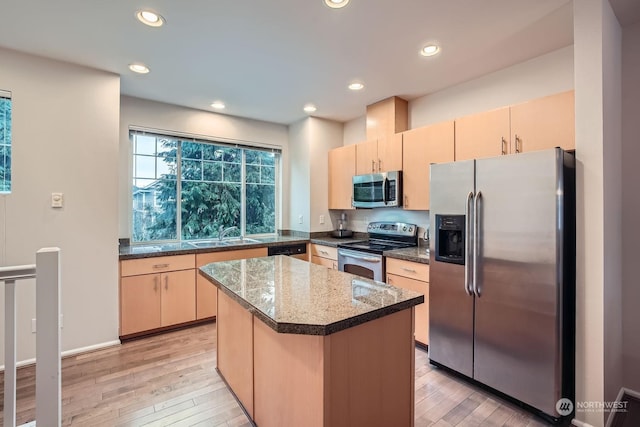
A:
[[[476,161],[474,378],[554,416],[561,397],[561,156],[545,150]]]

